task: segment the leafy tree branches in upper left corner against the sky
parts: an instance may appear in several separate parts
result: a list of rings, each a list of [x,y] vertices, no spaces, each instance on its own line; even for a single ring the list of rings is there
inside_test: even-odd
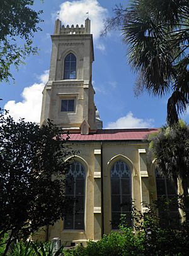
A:
[[[41,30],[38,23],[42,11],[34,11],[33,0],[1,0],[0,9],[0,81],[13,78],[11,66],[16,69],[37,47],[32,46],[33,33]]]

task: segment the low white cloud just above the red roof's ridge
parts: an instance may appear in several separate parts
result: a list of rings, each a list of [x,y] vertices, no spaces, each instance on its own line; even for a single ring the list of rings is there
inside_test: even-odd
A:
[[[153,119],[140,119],[135,118],[132,112],[129,112],[126,116],[118,118],[117,121],[108,123],[106,129],[113,128],[149,128],[152,126]]]

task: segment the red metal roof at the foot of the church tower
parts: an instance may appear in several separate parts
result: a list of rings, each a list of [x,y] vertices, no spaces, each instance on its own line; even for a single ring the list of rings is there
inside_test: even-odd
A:
[[[81,135],[81,133],[70,133],[69,141],[107,141],[107,140],[144,140],[147,135],[156,132],[157,128],[140,128],[140,129],[107,129],[97,130],[96,133]],[[62,135],[63,137],[64,135]]]

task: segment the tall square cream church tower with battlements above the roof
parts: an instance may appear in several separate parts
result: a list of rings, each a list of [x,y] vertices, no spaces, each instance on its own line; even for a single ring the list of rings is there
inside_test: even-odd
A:
[[[94,61],[91,21],[85,27],[64,27],[55,22],[49,81],[43,90],[40,125],[47,118],[55,125],[81,134],[102,128],[94,103],[92,63]]]

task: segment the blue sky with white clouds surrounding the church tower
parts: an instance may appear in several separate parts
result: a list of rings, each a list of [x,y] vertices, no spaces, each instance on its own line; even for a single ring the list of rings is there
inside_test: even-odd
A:
[[[93,86],[95,103],[100,112],[104,128],[139,128],[159,127],[166,121],[167,97],[157,98],[144,93],[134,95],[134,84],[137,78],[127,63],[127,46],[122,42],[120,32],[112,32],[100,37],[103,19],[112,15],[116,3],[129,1],[115,0],[80,0],[35,1],[36,10],[43,9],[44,20],[40,24],[42,32],[34,35],[33,42],[40,48],[38,55],[26,58],[26,65],[19,71],[12,68],[15,81],[0,84],[0,96],[3,106],[15,118],[26,121],[40,121],[42,89],[48,80],[50,68],[51,40],[54,32],[54,21],[59,14],[64,25],[81,25],[89,11],[91,30],[94,37],[95,62],[93,63]],[[2,104],[2,102],[1,102]],[[189,111],[182,116],[189,121]]]

